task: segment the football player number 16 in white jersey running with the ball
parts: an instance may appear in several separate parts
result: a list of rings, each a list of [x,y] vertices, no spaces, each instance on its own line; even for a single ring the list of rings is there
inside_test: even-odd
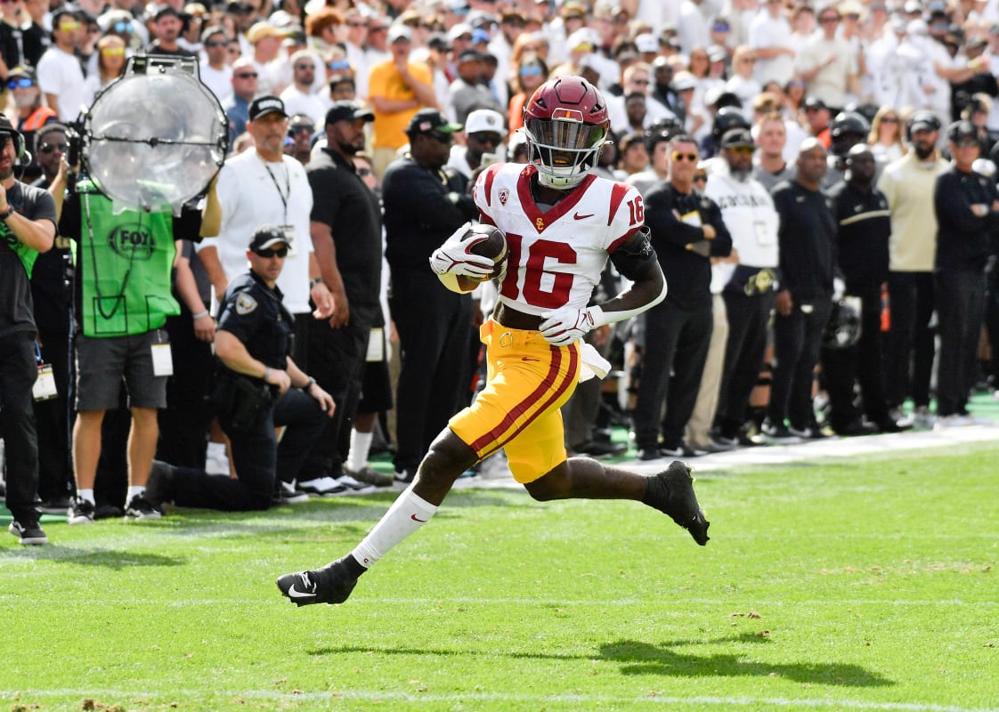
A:
[[[500,447],[513,477],[537,500],[634,499],[707,543],[708,522],[684,463],[645,476],[566,457],[558,408],[589,360],[581,337],[644,312],[665,297],[666,285],[642,229],[641,196],[593,173],[609,128],[596,88],[575,76],[545,82],[524,108],[524,128],[528,164],[491,166],[475,189],[482,221],[507,243],[499,304],[481,331],[486,387],[438,435],[414,482],[354,551],[278,579],[299,606],[347,600],[361,574],[434,515],[458,476]],[[469,286],[456,277],[489,279],[496,268],[471,252],[467,232],[460,229],[431,258],[456,291]],[[631,287],[589,307],[608,257]]]

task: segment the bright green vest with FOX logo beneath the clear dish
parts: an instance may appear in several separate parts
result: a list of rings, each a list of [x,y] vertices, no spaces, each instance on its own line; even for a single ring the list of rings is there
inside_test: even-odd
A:
[[[90,181],[77,191],[83,334],[124,337],[159,329],[181,311],[170,291],[177,254],[170,207],[122,208]]]

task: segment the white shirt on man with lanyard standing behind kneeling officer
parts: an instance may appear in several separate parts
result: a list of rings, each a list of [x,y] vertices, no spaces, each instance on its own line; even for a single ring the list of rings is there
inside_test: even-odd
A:
[[[216,190],[222,208],[222,227],[218,238],[208,238],[199,244],[199,252],[215,247],[226,280],[232,282],[249,269],[246,253],[254,231],[264,225],[292,226],[295,248],[285,260],[278,287],[285,295],[289,312],[311,312],[309,254],[313,252],[313,244],[309,216],[313,194],[305,167],[290,156],[284,156],[281,163],[266,162],[256,149],[248,149],[226,161]]]

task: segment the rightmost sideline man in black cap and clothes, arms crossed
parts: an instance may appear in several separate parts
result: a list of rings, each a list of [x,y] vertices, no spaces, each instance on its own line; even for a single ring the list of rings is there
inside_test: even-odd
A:
[[[954,165],[937,177],[933,206],[937,252],[933,282],[937,295],[940,353],[937,416],[941,424],[962,424],[975,379],[975,358],[985,305],[985,263],[989,235],[999,227],[995,183],[971,170],[981,153],[969,121],[947,129]]]

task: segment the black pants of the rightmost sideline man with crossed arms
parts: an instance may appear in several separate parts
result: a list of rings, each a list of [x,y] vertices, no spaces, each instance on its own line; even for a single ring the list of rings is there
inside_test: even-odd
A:
[[[977,372],[978,340],[985,312],[985,273],[955,270],[939,272],[934,277],[940,330],[937,414],[965,413]]]

